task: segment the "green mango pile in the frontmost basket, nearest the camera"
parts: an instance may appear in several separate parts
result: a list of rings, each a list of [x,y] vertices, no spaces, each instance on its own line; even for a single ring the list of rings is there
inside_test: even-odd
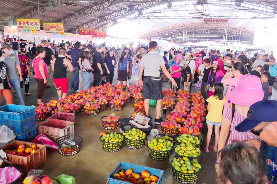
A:
[[[182,173],[195,173],[202,168],[197,160],[189,160],[188,157],[174,158],[171,165]]]

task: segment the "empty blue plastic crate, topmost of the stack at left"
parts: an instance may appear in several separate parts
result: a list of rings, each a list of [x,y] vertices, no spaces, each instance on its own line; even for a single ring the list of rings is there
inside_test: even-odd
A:
[[[35,115],[35,106],[20,106],[14,104],[7,104],[0,107],[1,120],[24,120],[30,116]]]

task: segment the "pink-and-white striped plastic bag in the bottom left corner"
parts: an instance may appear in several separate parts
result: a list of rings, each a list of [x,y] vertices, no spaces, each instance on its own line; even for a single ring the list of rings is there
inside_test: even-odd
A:
[[[16,181],[22,173],[15,167],[0,168],[0,184],[7,184]]]

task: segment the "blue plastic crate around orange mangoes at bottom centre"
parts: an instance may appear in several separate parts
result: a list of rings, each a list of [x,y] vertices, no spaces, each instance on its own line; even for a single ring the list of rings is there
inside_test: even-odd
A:
[[[128,163],[128,162],[119,162],[119,164],[107,176],[109,184],[129,184],[126,181],[121,181],[121,180],[117,180],[117,179],[113,178],[113,175],[115,173],[119,173],[122,169],[127,170],[129,168],[132,168],[134,173],[139,173],[139,174],[141,174],[141,171],[143,171],[143,170],[148,170],[150,175],[155,175],[159,178],[157,184],[162,183],[163,173],[164,173],[163,170],[154,169],[154,168],[151,168],[151,167],[139,166],[139,165],[131,164],[131,163]]]

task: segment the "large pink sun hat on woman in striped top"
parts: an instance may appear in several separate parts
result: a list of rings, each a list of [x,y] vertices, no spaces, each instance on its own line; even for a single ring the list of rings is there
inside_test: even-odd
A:
[[[255,75],[242,76],[231,93],[229,100],[236,105],[251,106],[263,99],[261,79]]]

